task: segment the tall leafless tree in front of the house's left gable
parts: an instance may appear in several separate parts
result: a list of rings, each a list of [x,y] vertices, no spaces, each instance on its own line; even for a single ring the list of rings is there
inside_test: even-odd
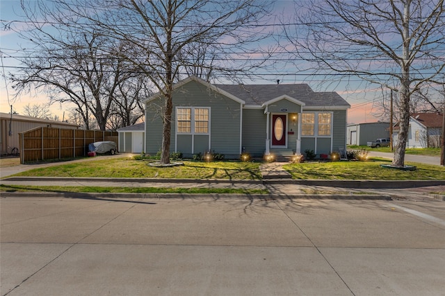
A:
[[[218,56],[220,63],[204,58],[202,69],[213,73],[248,75],[257,62],[234,61],[266,35],[258,24],[268,15],[269,1],[261,0],[88,0],[55,3],[60,20],[76,21],[83,29],[99,30],[128,45],[120,57],[144,73],[163,99],[163,141],[161,163],[170,162],[170,130],[172,121],[172,89],[181,75],[195,66],[193,49],[206,49]],[[261,64],[261,63],[258,63]],[[207,75],[207,74],[206,74]]]

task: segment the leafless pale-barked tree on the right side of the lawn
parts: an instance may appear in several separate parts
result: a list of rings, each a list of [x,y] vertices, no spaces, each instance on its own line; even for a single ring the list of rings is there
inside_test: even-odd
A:
[[[357,76],[398,92],[400,132],[393,166],[405,165],[410,98],[444,83],[444,0],[296,1],[298,30],[286,26],[298,59],[314,73]]]

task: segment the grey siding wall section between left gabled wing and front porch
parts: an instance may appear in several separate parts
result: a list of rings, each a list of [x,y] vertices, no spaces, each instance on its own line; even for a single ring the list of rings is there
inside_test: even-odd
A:
[[[266,114],[264,110],[243,110],[243,147],[253,157],[262,157],[266,149]]]

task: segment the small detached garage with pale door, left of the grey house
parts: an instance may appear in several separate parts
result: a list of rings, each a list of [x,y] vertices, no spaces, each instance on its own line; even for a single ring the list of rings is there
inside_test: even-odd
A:
[[[120,153],[145,152],[145,123],[137,123],[118,129]]]

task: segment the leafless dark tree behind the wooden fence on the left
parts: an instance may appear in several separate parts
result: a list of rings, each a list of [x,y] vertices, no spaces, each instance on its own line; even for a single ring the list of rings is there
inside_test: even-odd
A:
[[[26,66],[22,72],[13,76],[17,94],[43,89],[50,103],[74,104],[87,129],[90,116],[95,117],[101,130],[106,129],[112,113],[121,112],[125,119],[122,123],[128,122],[129,114],[143,116],[140,100],[147,91],[147,78],[145,83],[127,81],[140,80],[140,74],[115,55],[115,43],[94,30],[88,32],[58,18],[60,14],[51,3],[31,3],[22,1],[30,27],[20,34],[35,44],[35,49],[22,58]],[[133,87],[127,93],[122,92],[124,85],[145,88]],[[143,96],[133,96],[129,101],[131,94]],[[120,108],[112,110],[115,105]]]

